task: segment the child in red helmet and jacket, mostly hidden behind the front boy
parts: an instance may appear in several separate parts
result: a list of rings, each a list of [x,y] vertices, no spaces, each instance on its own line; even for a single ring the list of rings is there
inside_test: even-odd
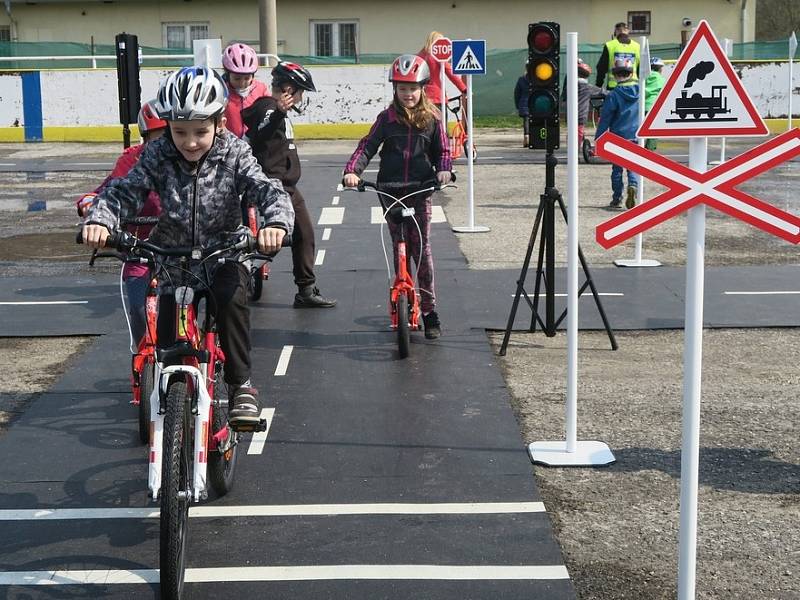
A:
[[[150,100],[142,105],[142,108],[139,110],[138,120],[142,143],[126,148],[117,159],[114,168],[103,183],[101,183],[94,192],[84,194],[78,198],[77,208],[78,214],[81,217],[86,216],[86,212],[89,210],[89,206],[91,206],[95,196],[102,192],[112,179],[127,175],[128,171],[130,171],[139,160],[145,146],[153,140],[160,138],[167,127],[167,122],[156,114],[155,100]],[[138,216],[156,217],[160,212],[161,200],[158,194],[150,192]],[[129,225],[128,231],[140,239],[147,239],[152,228],[152,225]],[[144,328],[146,325],[144,303],[147,286],[150,283],[150,270],[146,265],[125,263],[122,267],[122,281],[125,284],[125,295],[128,298],[127,309],[131,325],[131,337],[138,349],[144,338]]]

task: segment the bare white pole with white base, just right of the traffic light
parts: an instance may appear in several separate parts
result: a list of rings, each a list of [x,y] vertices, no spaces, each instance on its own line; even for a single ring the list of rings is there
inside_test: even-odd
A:
[[[578,64],[578,34],[567,33],[567,64]],[[605,466],[603,442],[578,441],[578,78],[567,77],[567,406],[566,441],[533,442],[531,460],[547,466]],[[548,282],[548,285],[552,285]]]

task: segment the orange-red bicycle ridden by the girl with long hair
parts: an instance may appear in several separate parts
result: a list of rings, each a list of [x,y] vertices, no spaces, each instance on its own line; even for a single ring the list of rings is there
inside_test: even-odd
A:
[[[455,174],[453,174],[455,181]],[[410,184],[403,184],[403,188],[408,188]],[[381,188],[385,188],[386,184],[381,184]],[[414,186],[416,187],[416,186]],[[379,189],[375,183],[371,181],[359,181],[358,186],[355,188],[344,188],[346,190],[356,190],[365,192],[367,188],[375,190],[378,194],[378,200],[383,209],[383,218],[385,221],[397,224],[400,226],[400,234],[397,238],[395,247],[395,256],[397,257],[397,264],[395,269],[394,281],[389,287],[389,317],[391,319],[391,327],[397,331],[397,349],[400,358],[408,357],[411,350],[411,332],[417,331],[420,328],[420,293],[416,282],[416,270],[412,266],[411,257],[408,256],[406,248],[406,224],[408,221],[413,221],[414,226],[419,231],[419,224],[414,218],[414,208],[407,206],[405,201],[418,194],[429,194],[431,192],[438,192],[447,187],[456,187],[454,185],[440,185],[438,182],[426,182],[422,184],[420,189],[417,189],[405,196],[397,198],[392,194]],[[420,233],[420,238],[422,235]],[[386,258],[386,269],[391,281],[391,270],[389,269],[389,255],[386,252],[386,243],[384,241],[383,227],[381,226],[381,244],[383,245],[383,255]],[[420,256],[414,261],[419,263],[421,259],[422,248],[420,248]],[[414,273],[414,275],[412,275]]]

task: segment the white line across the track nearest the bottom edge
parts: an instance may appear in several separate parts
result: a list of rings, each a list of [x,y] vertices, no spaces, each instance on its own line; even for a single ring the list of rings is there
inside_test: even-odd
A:
[[[309,565],[302,567],[212,567],[186,569],[186,583],[318,580],[555,580],[569,579],[563,565]],[[157,569],[131,571],[5,571],[0,585],[158,583]]]

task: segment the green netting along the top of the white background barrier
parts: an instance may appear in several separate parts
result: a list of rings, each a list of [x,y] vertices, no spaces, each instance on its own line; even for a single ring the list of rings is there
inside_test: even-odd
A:
[[[592,68],[595,68],[603,44],[581,44],[578,55]],[[190,49],[142,47],[144,55],[191,54]],[[75,42],[0,42],[0,57],[42,56],[36,61],[0,61],[0,71],[31,69],[86,69],[92,66],[92,55],[113,55],[111,44],[81,44]],[[674,60],[680,54],[677,44],[654,44],[650,47],[651,56],[664,60]],[[80,60],[48,60],[48,56],[86,56]],[[473,81],[474,114],[476,116],[514,115],[514,86],[523,74],[528,52],[525,48],[507,50],[488,50],[486,74],[475,75]],[[390,64],[393,54],[361,54],[354,57],[295,56],[283,55],[281,58],[305,65],[352,65],[352,64]],[[733,60],[786,60],[788,41],[750,42],[734,44]],[[561,53],[561,72],[566,73],[566,50]],[[149,67],[179,67],[189,64],[188,59],[162,59],[147,61]],[[98,68],[115,68],[114,60],[96,60]]]

